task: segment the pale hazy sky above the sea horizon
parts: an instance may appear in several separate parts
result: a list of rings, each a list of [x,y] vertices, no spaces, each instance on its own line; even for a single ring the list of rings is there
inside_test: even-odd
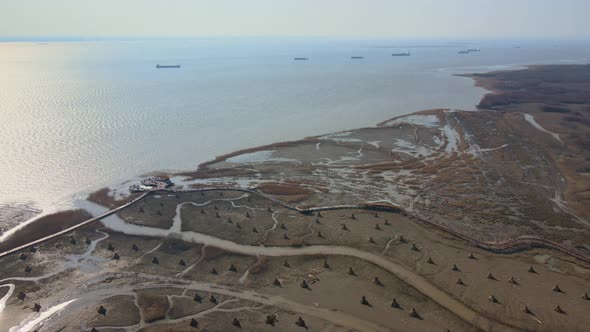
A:
[[[0,0],[0,37],[590,37],[590,0]]]

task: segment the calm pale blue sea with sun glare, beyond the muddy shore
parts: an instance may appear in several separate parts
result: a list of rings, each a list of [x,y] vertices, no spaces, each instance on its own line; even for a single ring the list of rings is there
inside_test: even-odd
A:
[[[559,42],[192,39],[0,43],[0,227],[236,149],[473,109],[453,73],[586,62]],[[467,47],[478,53],[459,55]],[[410,57],[391,53],[410,51]],[[364,56],[352,60],[351,56]],[[293,61],[308,57],[309,61]],[[156,64],[181,69],[155,69]]]

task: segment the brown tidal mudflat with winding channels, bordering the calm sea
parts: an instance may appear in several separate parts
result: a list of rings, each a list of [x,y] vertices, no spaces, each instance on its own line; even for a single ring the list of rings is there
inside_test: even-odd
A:
[[[220,156],[0,258],[0,330],[587,330],[590,66],[472,77],[478,111]]]

